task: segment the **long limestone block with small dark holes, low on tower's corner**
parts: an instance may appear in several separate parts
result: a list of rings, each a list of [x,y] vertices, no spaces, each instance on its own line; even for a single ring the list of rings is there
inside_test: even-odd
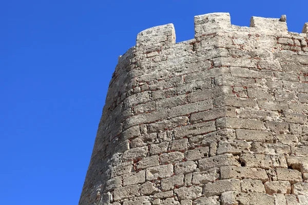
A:
[[[250,167],[226,166],[220,168],[221,179],[258,179],[262,182],[268,181],[268,176],[263,169]]]

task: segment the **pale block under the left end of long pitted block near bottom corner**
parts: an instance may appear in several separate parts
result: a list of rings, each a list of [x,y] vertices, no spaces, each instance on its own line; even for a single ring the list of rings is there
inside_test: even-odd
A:
[[[213,183],[206,183],[203,187],[203,194],[206,197],[221,195],[227,191],[241,191],[239,179],[218,180]]]

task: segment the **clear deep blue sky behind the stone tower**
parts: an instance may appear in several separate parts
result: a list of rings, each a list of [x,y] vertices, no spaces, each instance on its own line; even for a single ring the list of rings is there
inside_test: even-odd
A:
[[[237,2],[237,3],[233,3]],[[301,32],[306,2],[2,1],[0,204],[78,204],[118,56],[147,28],[173,23],[194,37],[194,16],[287,15]]]

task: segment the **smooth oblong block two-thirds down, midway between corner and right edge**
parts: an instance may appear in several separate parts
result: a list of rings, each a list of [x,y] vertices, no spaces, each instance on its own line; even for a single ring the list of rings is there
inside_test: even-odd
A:
[[[235,133],[236,138],[239,140],[273,142],[273,134],[271,132],[237,129]]]

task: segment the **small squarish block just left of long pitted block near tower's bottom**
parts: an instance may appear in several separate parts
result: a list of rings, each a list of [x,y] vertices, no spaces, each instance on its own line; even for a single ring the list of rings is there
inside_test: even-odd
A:
[[[213,182],[219,179],[219,169],[213,168],[205,172],[194,172],[192,175],[192,184],[200,185]]]

